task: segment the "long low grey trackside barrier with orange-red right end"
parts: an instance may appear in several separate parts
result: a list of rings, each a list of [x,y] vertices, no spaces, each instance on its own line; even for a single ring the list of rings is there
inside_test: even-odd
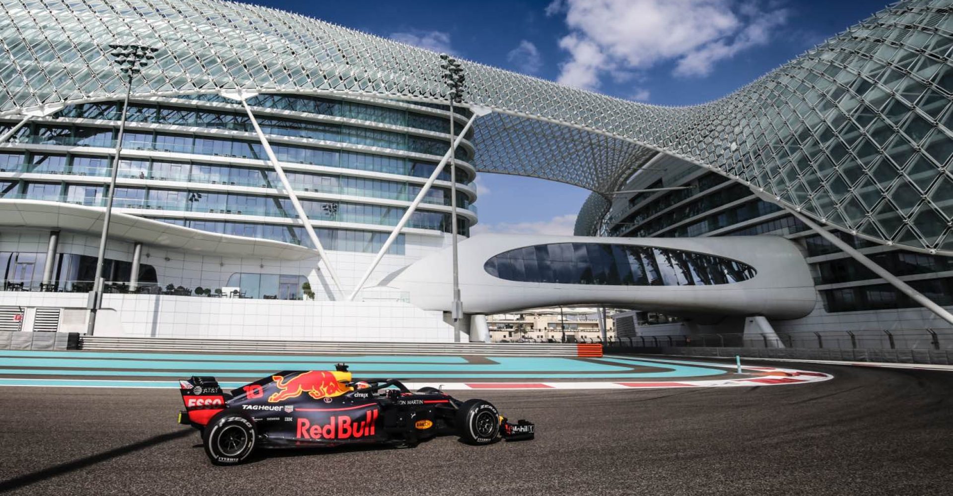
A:
[[[23,334],[32,334],[24,332]],[[599,357],[602,345],[549,343],[339,343],[86,336],[79,348],[97,351],[221,352],[268,354],[475,355]]]

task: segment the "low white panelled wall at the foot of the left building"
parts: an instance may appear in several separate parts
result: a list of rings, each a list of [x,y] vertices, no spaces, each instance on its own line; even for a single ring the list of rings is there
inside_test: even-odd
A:
[[[0,301],[85,314],[87,294],[0,291]],[[148,294],[104,295],[95,334],[303,341],[454,340],[453,327],[443,322],[443,312],[398,301],[302,302]]]

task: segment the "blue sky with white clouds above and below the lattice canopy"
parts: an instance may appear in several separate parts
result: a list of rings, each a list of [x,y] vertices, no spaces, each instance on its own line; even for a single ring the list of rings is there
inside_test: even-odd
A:
[[[655,105],[717,99],[885,0],[254,0]],[[477,150],[478,152],[478,150]],[[588,191],[482,174],[480,231],[568,234]]]

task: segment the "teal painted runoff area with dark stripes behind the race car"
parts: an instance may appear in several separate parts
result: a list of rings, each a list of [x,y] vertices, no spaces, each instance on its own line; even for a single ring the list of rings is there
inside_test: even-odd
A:
[[[687,379],[726,373],[704,364],[622,357],[228,355],[84,351],[0,351],[0,386],[177,387],[176,379],[211,375],[237,387],[280,370],[329,370],[346,363],[356,377],[429,380]],[[646,369],[646,367],[649,367]],[[69,377],[70,379],[65,379]],[[146,378],[150,380],[146,380]],[[168,383],[166,383],[168,381]]]

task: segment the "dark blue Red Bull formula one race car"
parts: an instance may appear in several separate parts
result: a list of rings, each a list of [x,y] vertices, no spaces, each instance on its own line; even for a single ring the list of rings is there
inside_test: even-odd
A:
[[[416,446],[441,435],[472,445],[533,439],[525,420],[506,421],[483,400],[461,402],[434,387],[416,392],[394,379],[354,380],[335,371],[285,371],[223,392],[213,377],[179,381],[179,424],[202,432],[215,465],[235,465],[257,447],[381,444]]]

